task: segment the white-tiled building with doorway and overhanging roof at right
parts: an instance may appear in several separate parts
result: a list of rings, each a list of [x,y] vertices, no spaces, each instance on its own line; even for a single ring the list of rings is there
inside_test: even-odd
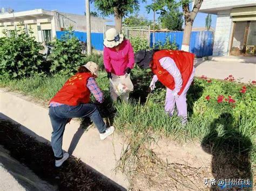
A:
[[[204,0],[199,12],[217,15],[213,55],[256,55],[256,0]]]

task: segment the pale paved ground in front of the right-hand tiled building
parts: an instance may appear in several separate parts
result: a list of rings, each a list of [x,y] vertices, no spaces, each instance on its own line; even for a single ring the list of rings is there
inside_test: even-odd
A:
[[[235,79],[241,79],[240,81],[243,83],[256,80],[256,63],[197,59],[194,66],[196,67],[196,76],[205,75],[210,78],[224,80],[231,74]]]

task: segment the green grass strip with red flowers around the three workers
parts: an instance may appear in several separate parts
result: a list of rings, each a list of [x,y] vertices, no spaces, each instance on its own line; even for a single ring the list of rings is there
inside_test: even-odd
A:
[[[150,78],[149,71],[145,73],[139,69],[133,70],[134,91],[130,95],[129,104],[112,104],[106,73],[100,73],[97,79],[105,95],[105,102],[99,109],[103,117],[109,118],[108,121],[123,132],[129,143],[118,167],[126,172],[142,173],[141,169],[148,168],[149,164],[162,164],[163,161],[159,163],[149,145],[156,142],[156,135],[165,135],[178,141],[199,141],[213,156],[219,153],[232,156],[236,161],[246,160],[248,162],[243,168],[239,168],[239,172],[243,170],[247,174],[246,177],[252,176],[251,169],[256,164],[256,88],[253,84],[194,79],[187,94],[188,123],[183,126],[176,112],[173,117],[165,114],[165,88],[159,82],[153,94],[146,93]],[[49,101],[66,79],[68,76],[2,79],[0,87],[8,87],[10,90],[18,90]],[[245,89],[244,93],[241,92],[242,89]],[[207,100],[206,97],[210,98]],[[242,160],[238,157],[241,155],[245,156]],[[219,160],[216,158],[216,161]],[[217,166],[220,163],[225,164],[225,161],[221,162],[213,162],[213,173],[221,174]],[[230,164],[232,166],[233,163],[230,161]],[[238,166],[242,166],[241,162]],[[162,167],[159,166],[160,168]],[[171,176],[170,173],[169,175]]]

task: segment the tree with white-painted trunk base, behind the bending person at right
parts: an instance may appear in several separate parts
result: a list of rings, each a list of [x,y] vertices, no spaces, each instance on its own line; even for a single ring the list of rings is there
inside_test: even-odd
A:
[[[164,12],[166,12],[166,9],[176,10],[181,6],[185,20],[185,28],[181,49],[187,52],[189,50],[190,34],[192,31],[193,22],[201,7],[201,4],[203,3],[203,0],[194,0],[192,10],[190,10],[191,3],[191,0],[157,0],[146,7],[149,11],[160,11],[160,13],[163,14]]]

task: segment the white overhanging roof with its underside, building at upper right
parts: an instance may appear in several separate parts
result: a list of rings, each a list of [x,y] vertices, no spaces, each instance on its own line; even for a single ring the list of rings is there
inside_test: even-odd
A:
[[[255,0],[204,0],[199,12],[217,15],[218,11],[256,6]]]

